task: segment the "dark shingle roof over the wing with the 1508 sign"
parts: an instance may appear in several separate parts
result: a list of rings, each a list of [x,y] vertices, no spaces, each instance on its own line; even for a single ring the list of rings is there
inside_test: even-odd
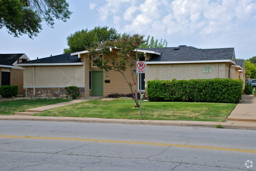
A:
[[[143,48],[142,50],[161,53],[161,55],[153,55],[148,61],[202,61],[232,59],[234,48],[198,49],[192,46],[179,46],[172,48]]]

